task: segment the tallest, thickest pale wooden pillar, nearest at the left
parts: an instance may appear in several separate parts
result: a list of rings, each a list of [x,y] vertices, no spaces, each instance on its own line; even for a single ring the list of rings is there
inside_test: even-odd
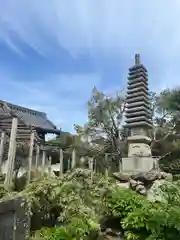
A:
[[[10,187],[12,183],[13,170],[14,170],[14,161],[16,155],[16,133],[17,133],[18,119],[12,119],[11,135],[9,140],[9,151],[8,151],[8,169],[5,178],[5,185]]]

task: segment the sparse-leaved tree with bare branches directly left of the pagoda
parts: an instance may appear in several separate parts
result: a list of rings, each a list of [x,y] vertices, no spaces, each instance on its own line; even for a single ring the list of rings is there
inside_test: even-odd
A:
[[[75,129],[84,141],[97,149],[98,154],[114,153],[122,161],[121,129],[124,110],[122,92],[108,97],[94,88],[88,101],[88,121],[83,127],[75,125]]]

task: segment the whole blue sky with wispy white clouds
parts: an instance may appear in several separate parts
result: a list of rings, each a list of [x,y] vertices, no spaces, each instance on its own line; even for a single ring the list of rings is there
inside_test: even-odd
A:
[[[126,87],[135,53],[152,90],[177,86],[179,0],[0,0],[0,99],[83,124],[93,86]]]

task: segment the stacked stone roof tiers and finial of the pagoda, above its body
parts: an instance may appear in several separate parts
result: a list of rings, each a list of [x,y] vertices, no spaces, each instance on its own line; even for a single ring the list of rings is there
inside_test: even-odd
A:
[[[151,106],[149,101],[148,73],[135,55],[135,65],[129,68],[126,97],[126,128],[152,127]]]

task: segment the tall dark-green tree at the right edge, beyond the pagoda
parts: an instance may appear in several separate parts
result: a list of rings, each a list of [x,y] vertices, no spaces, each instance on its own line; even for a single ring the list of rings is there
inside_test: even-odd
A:
[[[163,155],[180,146],[180,89],[166,89],[154,94],[153,103],[155,138],[152,148]]]

